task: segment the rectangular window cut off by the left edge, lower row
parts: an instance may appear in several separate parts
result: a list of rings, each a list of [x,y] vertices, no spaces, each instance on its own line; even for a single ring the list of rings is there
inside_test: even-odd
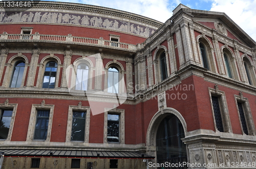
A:
[[[0,139],[6,139],[8,137],[11,119],[12,110],[2,110],[0,121]]]

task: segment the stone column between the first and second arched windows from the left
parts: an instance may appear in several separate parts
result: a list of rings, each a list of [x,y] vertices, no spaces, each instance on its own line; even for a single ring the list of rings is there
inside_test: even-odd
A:
[[[26,85],[27,87],[34,86],[39,54],[40,54],[39,49],[32,50],[32,58],[30,61],[30,67],[29,67],[29,73],[28,73],[28,79],[27,79],[27,85]]]

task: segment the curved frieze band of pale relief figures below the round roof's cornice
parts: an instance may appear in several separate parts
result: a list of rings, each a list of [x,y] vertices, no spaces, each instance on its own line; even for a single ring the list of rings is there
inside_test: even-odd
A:
[[[101,18],[97,16],[78,15],[69,13],[52,13],[52,12],[15,12],[0,14],[0,22],[47,22],[47,23],[67,23],[81,24],[96,27],[104,27],[122,32],[130,32],[133,34],[149,37],[155,30],[149,27],[136,25],[126,21],[115,20],[110,18]],[[130,30],[129,30],[130,29]]]

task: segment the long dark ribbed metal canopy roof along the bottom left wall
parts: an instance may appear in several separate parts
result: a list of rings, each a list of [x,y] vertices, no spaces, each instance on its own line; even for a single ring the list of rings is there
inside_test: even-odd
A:
[[[2,149],[9,157],[75,157],[75,158],[123,158],[123,159],[154,159],[155,157],[137,152],[124,151],[76,151],[76,150],[20,150]]]

